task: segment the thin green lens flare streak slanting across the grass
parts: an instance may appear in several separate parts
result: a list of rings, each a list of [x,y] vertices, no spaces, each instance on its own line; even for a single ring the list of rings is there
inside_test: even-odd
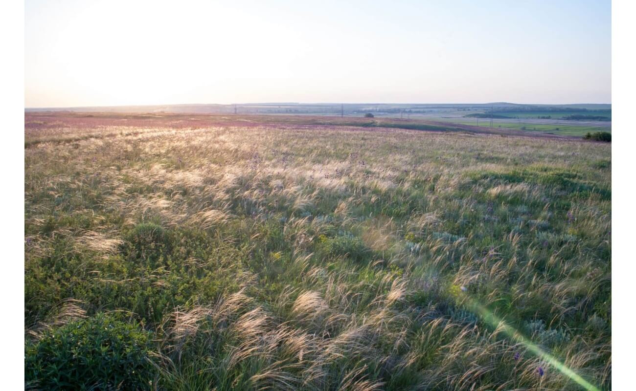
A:
[[[509,338],[519,343],[522,343],[530,352],[537,355],[537,357],[544,360],[546,363],[550,364],[550,366],[555,367],[560,373],[565,374],[565,376],[569,377],[571,380],[575,381],[578,385],[583,387],[588,391],[600,391],[598,387],[595,387],[584,378],[579,376],[576,372],[572,371],[569,367],[565,366],[562,362],[556,359],[553,355],[546,353],[536,344],[529,341],[527,338],[522,336],[518,331],[516,331],[513,327],[508,326],[506,322],[504,322],[501,318],[497,317],[494,313],[492,313],[488,308],[478,304],[471,298],[466,298],[467,304],[469,307],[473,309],[474,312],[479,313],[481,317],[491,326],[497,327],[502,330],[504,334],[506,334]]]

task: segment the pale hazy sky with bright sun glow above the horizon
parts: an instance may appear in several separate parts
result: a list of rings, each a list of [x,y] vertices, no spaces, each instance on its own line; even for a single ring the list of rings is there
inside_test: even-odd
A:
[[[27,107],[500,101],[611,103],[611,2],[26,1]]]

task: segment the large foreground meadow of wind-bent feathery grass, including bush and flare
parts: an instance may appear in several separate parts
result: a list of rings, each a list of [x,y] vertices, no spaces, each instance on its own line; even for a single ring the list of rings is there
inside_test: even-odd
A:
[[[148,117],[25,117],[27,388],[611,388],[609,144]]]

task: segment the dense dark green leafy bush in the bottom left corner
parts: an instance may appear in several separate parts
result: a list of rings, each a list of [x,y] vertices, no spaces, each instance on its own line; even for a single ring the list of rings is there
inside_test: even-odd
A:
[[[116,315],[71,322],[25,346],[25,383],[43,390],[147,390],[151,333]]]

